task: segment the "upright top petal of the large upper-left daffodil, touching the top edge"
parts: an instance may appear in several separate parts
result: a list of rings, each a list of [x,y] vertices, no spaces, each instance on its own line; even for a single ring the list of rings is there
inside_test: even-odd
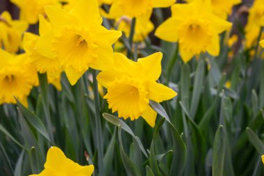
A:
[[[99,14],[99,4],[97,0],[80,0],[76,6],[72,9],[71,13],[81,24],[101,24],[102,18]]]

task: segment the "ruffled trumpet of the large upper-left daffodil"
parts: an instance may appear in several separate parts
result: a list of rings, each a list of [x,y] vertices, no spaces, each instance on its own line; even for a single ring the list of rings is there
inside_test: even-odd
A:
[[[65,26],[60,35],[55,36],[53,47],[58,53],[59,63],[78,72],[88,70],[98,54],[93,35],[88,30],[76,26]]]

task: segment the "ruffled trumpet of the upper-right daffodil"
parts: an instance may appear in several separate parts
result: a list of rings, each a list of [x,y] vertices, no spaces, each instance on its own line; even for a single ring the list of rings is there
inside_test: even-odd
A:
[[[212,34],[208,22],[190,18],[179,26],[179,43],[185,51],[200,54],[211,45]]]

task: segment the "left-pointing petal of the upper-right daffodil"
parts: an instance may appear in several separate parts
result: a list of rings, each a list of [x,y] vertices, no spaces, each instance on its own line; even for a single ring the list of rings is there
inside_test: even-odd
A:
[[[179,40],[177,24],[180,22],[181,19],[170,17],[163,24],[158,26],[155,35],[167,42],[177,42]]]

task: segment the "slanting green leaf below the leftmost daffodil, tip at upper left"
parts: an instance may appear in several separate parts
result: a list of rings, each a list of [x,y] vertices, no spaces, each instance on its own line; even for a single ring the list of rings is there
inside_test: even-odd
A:
[[[49,142],[51,142],[49,138],[49,134],[47,132],[46,127],[38,118],[37,115],[33,114],[31,111],[28,111],[25,106],[23,106],[18,100],[17,100],[17,106],[19,107],[20,111],[23,113],[23,116],[26,118],[26,120],[38,131],[44,138],[47,138]]]

